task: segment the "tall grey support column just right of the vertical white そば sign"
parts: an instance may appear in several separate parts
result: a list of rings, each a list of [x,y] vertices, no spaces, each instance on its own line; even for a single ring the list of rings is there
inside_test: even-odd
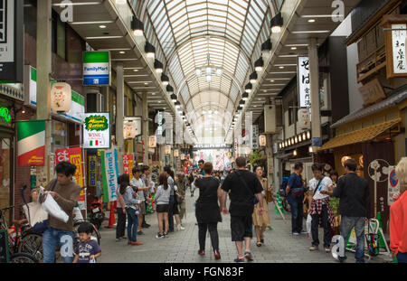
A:
[[[311,130],[313,151],[321,145],[321,114],[319,109],[319,69],[317,38],[309,39],[309,80],[311,89]]]

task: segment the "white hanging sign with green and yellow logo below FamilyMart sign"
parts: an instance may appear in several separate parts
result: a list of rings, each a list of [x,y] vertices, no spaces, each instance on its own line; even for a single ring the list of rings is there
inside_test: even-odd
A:
[[[110,114],[86,113],[83,129],[84,148],[110,148]]]

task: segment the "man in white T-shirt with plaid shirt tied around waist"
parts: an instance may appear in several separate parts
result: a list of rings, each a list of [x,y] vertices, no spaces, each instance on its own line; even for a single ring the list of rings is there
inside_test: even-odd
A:
[[[329,191],[333,188],[332,180],[328,176],[324,176],[323,167],[321,164],[313,164],[312,173],[314,173],[314,178],[308,183],[309,195],[308,195],[308,214],[311,215],[311,236],[312,236],[312,246],[309,248],[310,251],[316,251],[319,245],[318,239],[318,226],[319,220],[322,221],[322,226],[324,227],[324,248],[327,253],[331,251],[331,237],[330,237],[330,226],[334,224],[334,215],[332,214],[331,208],[329,206],[329,196],[327,194],[322,194],[321,192]]]

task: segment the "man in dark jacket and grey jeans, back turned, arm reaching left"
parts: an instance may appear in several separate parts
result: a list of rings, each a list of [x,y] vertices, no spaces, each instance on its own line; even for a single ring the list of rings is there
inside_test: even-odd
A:
[[[341,236],[344,239],[344,254],[347,237],[353,228],[356,233],[356,263],[364,263],[364,224],[370,218],[370,193],[367,181],[356,174],[356,161],[345,161],[345,175],[337,181],[333,191],[321,192],[334,195],[340,199],[339,214],[341,219]],[[346,256],[339,257],[344,262]]]

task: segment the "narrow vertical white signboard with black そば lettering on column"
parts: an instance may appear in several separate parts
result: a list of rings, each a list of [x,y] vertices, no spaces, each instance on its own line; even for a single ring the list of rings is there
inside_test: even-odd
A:
[[[298,96],[300,108],[311,108],[311,85],[309,80],[309,59],[298,56]]]

